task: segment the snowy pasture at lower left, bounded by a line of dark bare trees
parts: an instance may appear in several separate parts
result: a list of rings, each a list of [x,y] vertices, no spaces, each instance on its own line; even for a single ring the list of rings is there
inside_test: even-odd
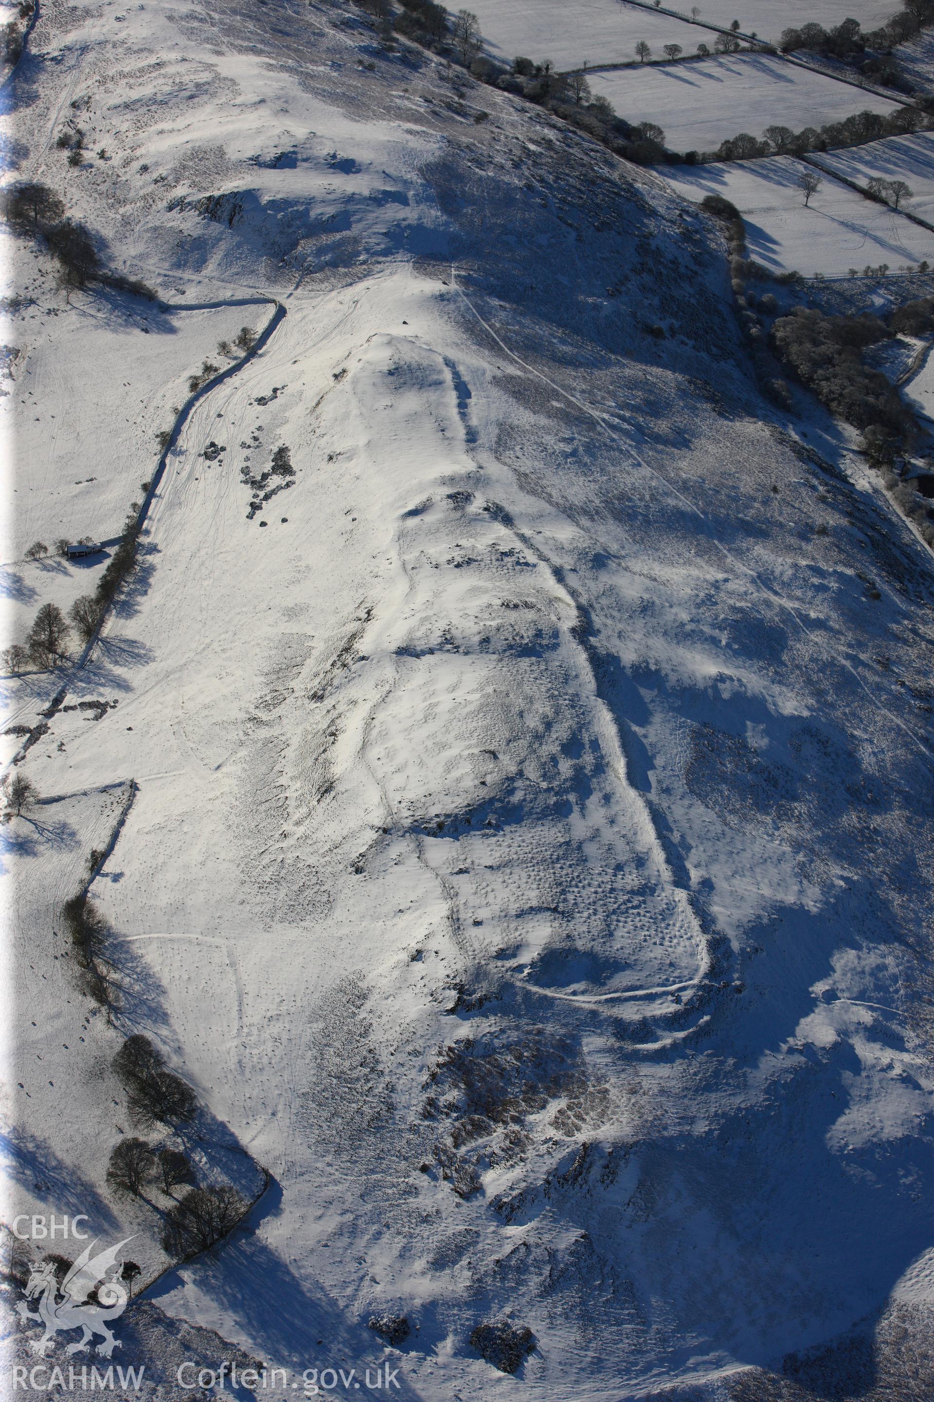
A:
[[[101,672],[98,683],[108,684]],[[84,718],[84,712],[78,715]],[[122,1008],[116,1025],[108,1022],[80,987],[60,920],[63,901],[87,883],[91,852],[108,851],[119,830],[132,802],[132,784],[111,781],[98,788],[50,792],[38,763],[42,753],[39,742],[22,765],[39,788],[41,802],[24,816],[10,817],[0,830],[8,917],[0,1050],[4,1064],[15,1066],[21,1092],[15,1124],[0,1134],[4,1217],[11,1221],[18,1213],[48,1214],[52,1203],[59,1214],[84,1213],[92,1235],[132,1237],[126,1256],[141,1267],[140,1284],[146,1284],[169,1265],[160,1244],[158,1209],[164,1213],[172,1199],[154,1185],[147,1185],[143,1199],[106,1185],[111,1150],[134,1131],[125,1088],[111,1061],[123,1037],[143,1021],[150,1032],[160,1025],[161,990],[133,942],[111,932],[105,958],[116,970]],[[119,859],[104,862],[91,896],[122,879]],[[15,900],[10,900],[11,882]],[[183,1057],[171,1043],[165,1049],[172,1068],[185,1075]],[[232,1183],[245,1202],[262,1192],[256,1165],[203,1106],[190,1124],[176,1131],[158,1126],[143,1134],[155,1150],[182,1148],[202,1185]],[[77,1255],[76,1246],[69,1242],[57,1249]]]

